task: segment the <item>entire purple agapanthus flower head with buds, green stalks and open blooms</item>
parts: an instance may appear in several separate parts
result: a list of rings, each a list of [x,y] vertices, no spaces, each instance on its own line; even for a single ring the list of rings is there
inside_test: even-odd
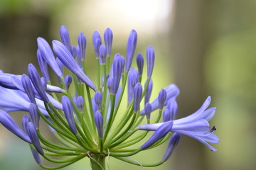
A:
[[[208,108],[210,97],[196,113],[178,120],[176,97],[179,90],[175,84],[161,89],[159,96],[149,102],[155,53],[152,46],[147,47],[147,74],[142,86],[142,53],[136,57],[137,69],[132,67],[137,46],[135,30],[129,34],[126,58],[119,53],[112,55],[113,34],[110,28],[105,30],[105,43],[98,31],[93,33],[96,84],[86,73],[85,35],[80,33],[77,46],[70,45],[68,29],[61,26],[60,38],[61,42],[53,40],[53,49],[45,39],[37,39],[37,58],[43,77],[33,64],[28,64],[28,75],[0,72],[0,123],[28,142],[41,167],[59,169],[84,157],[90,159],[92,169],[105,169],[105,157],[139,166],[158,166],[169,159],[182,134],[216,151],[208,144],[219,141],[213,134],[215,128],[210,129],[208,123],[215,113],[215,108]],[[58,78],[58,86],[51,84],[48,67]],[[64,75],[64,67],[70,74]],[[125,92],[127,102],[123,97]],[[23,128],[9,115],[13,111],[28,113],[23,116]],[[156,116],[151,116],[151,113]],[[43,137],[40,120],[48,125],[58,143]],[[163,122],[160,123],[161,120]],[[155,131],[151,137],[148,137],[149,131]],[[155,164],[139,164],[127,158],[157,147],[166,140],[169,140],[166,153]],[[144,144],[138,146],[140,141]],[[41,162],[42,157],[57,166],[46,166]]]

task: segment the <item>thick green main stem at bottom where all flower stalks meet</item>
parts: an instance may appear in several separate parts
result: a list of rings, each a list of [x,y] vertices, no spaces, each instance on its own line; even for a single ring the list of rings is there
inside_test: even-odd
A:
[[[90,156],[90,163],[92,166],[92,170],[105,170],[105,155],[100,154],[92,154]]]

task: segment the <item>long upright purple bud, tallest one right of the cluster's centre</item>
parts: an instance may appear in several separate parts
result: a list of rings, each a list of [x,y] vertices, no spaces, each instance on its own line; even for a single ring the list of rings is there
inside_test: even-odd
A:
[[[132,30],[129,34],[128,42],[127,42],[127,62],[125,66],[125,70],[129,71],[132,65],[132,59],[134,57],[135,48],[137,45],[137,32]]]

